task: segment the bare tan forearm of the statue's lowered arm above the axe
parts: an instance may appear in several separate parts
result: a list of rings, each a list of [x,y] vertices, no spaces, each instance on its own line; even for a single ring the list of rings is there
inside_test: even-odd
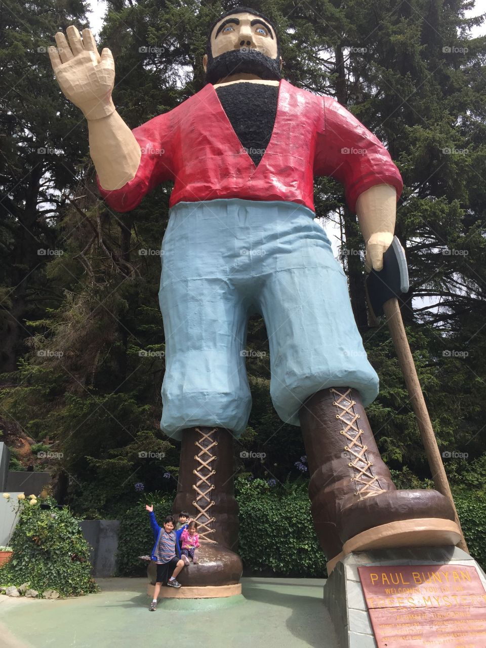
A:
[[[378,232],[393,235],[397,214],[397,192],[391,185],[375,185],[356,201],[356,214],[365,241]]]

